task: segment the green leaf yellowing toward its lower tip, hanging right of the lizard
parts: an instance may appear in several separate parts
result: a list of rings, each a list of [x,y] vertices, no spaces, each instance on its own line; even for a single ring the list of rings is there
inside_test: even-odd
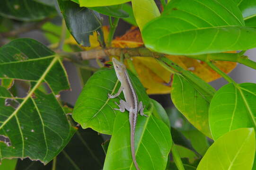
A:
[[[173,77],[171,99],[176,108],[204,135],[211,137],[208,110],[210,92],[201,91],[184,76]]]

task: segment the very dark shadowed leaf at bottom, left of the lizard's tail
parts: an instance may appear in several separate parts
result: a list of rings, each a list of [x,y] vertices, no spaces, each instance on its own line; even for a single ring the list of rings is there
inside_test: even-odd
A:
[[[80,128],[70,143],[55,158],[54,170],[102,169],[105,159],[105,153],[100,147],[102,142],[102,136],[97,132],[90,128]],[[44,166],[39,161],[19,160],[16,170],[53,170],[53,161]]]

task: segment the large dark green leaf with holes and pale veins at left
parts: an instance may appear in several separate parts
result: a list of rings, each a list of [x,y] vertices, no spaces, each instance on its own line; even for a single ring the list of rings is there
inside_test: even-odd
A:
[[[0,79],[31,82],[24,98],[13,97],[0,86],[0,159],[25,158],[44,164],[69,142],[70,126],[56,95],[69,89],[58,55],[32,39],[16,39],[0,48]],[[38,90],[47,83],[52,93]]]

